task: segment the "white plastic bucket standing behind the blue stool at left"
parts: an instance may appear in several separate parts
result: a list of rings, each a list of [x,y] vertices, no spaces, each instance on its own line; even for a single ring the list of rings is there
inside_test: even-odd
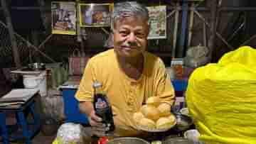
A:
[[[27,89],[39,89],[41,96],[47,95],[46,72],[39,75],[23,75],[23,84]]]

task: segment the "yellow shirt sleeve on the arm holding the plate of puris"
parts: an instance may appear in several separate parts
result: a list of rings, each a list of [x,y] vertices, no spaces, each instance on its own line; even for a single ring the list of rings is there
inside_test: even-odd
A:
[[[159,60],[159,70],[156,77],[156,96],[159,96],[161,101],[168,104],[174,104],[175,92],[171,84],[171,79],[166,73],[164,62]]]

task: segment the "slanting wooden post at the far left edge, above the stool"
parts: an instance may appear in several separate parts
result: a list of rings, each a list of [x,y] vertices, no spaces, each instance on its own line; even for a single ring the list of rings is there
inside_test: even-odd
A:
[[[6,24],[7,24],[9,35],[10,35],[11,48],[14,55],[14,62],[16,67],[21,67],[21,60],[18,54],[18,46],[17,46],[15,35],[14,35],[14,28],[11,23],[11,15],[10,15],[8,6],[6,4],[6,0],[1,0],[1,6],[2,6],[2,9],[4,10],[4,16],[6,17]]]

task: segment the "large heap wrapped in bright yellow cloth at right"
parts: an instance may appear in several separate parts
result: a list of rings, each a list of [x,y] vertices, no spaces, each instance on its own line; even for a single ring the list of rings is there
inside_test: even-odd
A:
[[[186,102],[207,144],[256,143],[256,50],[247,46],[196,69]]]

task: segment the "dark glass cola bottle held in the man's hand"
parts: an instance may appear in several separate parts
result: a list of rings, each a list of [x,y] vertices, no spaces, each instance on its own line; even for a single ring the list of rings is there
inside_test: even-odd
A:
[[[102,123],[110,127],[107,133],[114,131],[114,119],[110,101],[107,99],[106,93],[102,89],[102,84],[100,82],[94,82],[92,85],[94,89],[93,95],[93,107],[97,116],[102,118]]]

